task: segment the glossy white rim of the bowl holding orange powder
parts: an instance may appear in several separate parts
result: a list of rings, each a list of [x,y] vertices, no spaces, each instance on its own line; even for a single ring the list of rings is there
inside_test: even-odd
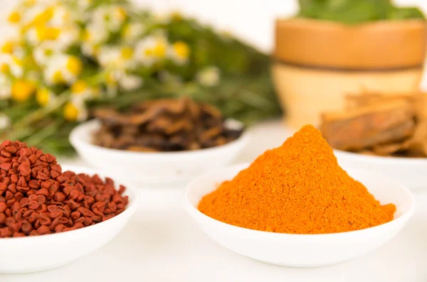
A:
[[[186,186],[185,190],[184,190],[184,194],[183,194],[183,205],[184,205],[184,209],[186,210],[186,212],[189,213],[189,215],[191,215],[191,217],[193,217],[194,219],[196,219],[197,222],[199,222],[200,224],[214,224],[218,227],[221,228],[228,228],[230,230],[233,230],[234,232],[246,232],[246,234],[248,236],[264,236],[264,237],[268,237],[268,239],[295,239],[295,240],[317,240],[317,239],[325,239],[325,240],[330,240],[330,239],[334,239],[335,237],[354,237],[354,236],[363,236],[364,234],[367,234],[368,232],[373,232],[374,230],[378,230],[378,229],[384,229],[386,227],[389,227],[389,225],[391,224],[397,224],[398,222],[407,222],[413,215],[413,213],[415,212],[415,200],[413,198],[413,195],[411,193],[411,191],[406,188],[404,185],[401,185],[400,183],[396,183],[395,181],[391,181],[393,182],[396,186],[399,186],[399,188],[401,188],[406,195],[408,195],[409,199],[411,199],[411,205],[408,209],[408,211],[406,211],[404,214],[402,214],[399,218],[393,219],[390,222],[386,222],[384,224],[380,224],[377,225],[375,227],[369,227],[366,229],[359,229],[359,230],[354,230],[354,231],[349,231],[349,232],[339,232],[339,233],[327,233],[327,234],[290,234],[290,233],[275,233],[275,232],[267,232],[267,231],[260,231],[260,230],[255,230],[255,229],[248,229],[248,228],[243,228],[243,227],[238,227],[232,224],[228,224],[225,222],[221,222],[217,219],[214,219],[212,217],[209,217],[207,215],[205,215],[203,212],[200,212],[196,207],[194,207],[194,205],[191,204],[190,200],[189,200],[189,192],[191,190],[191,188],[194,186],[195,183],[198,183],[199,181],[203,180],[204,178],[206,178],[207,176],[210,175],[216,175],[219,173],[224,173],[225,171],[228,170],[237,170],[238,168],[240,170],[243,170],[244,168],[247,168],[249,166],[249,163],[244,163],[244,164],[238,164],[235,166],[229,166],[227,168],[222,168],[220,170],[215,170],[211,173],[206,173],[204,175],[199,176],[198,178],[194,179],[193,181],[191,181],[191,183],[189,183],[189,185]],[[381,177],[384,178],[384,177]],[[224,179],[227,180],[227,179]]]

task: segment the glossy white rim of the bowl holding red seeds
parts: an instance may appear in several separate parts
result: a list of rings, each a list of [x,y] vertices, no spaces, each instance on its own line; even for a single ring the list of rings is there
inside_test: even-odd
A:
[[[86,173],[89,175],[94,175],[94,174],[98,174],[100,175],[101,178],[105,178],[105,176],[107,176],[107,174],[102,173],[102,171],[100,170],[93,170],[90,168],[85,168],[84,166],[62,166],[63,167],[63,171],[67,171],[67,170],[73,170],[73,171],[77,171],[78,173]],[[99,222],[97,224],[94,225],[90,225],[88,227],[83,227],[80,229],[76,229],[76,230],[70,230],[67,232],[60,232],[60,233],[53,233],[53,234],[45,234],[45,235],[39,235],[39,236],[31,236],[31,237],[11,237],[11,238],[0,238],[0,246],[1,244],[21,244],[21,242],[23,241],[41,241],[41,240],[51,240],[51,239],[67,239],[67,237],[69,236],[73,236],[74,234],[77,234],[77,232],[85,232],[85,230],[88,230],[88,228],[93,229],[93,228],[97,228],[99,224],[107,224],[112,223],[112,222],[117,222],[121,219],[124,219],[124,217],[132,217],[133,214],[135,214],[135,212],[138,210],[138,206],[139,206],[139,202],[141,201],[140,199],[140,195],[139,192],[137,191],[137,188],[135,188],[131,183],[127,182],[127,181],[122,181],[119,178],[116,177],[111,177],[112,180],[114,180],[116,185],[125,185],[126,190],[130,191],[131,196],[129,195],[129,204],[126,207],[125,211],[122,212],[120,215],[116,215],[115,217],[112,217],[108,220],[106,220],[105,222]],[[53,238],[55,237],[55,238]],[[40,243],[40,242],[38,242]],[[38,244],[35,242],[35,244]]]

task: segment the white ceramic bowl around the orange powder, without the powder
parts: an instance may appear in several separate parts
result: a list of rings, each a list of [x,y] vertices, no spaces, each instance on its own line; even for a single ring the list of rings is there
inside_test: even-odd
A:
[[[381,203],[396,205],[395,218],[376,227],[334,234],[281,234],[236,227],[219,222],[197,210],[201,198],[230,180],[248,165],[231,166],[202,175],[184,192],[184,207],[199,227],[218,244],[258,261],[279,266],[314,267],[337,264],[365,254],[388,242],[413,215],[411,192],[386,178],[366,170],[348,170],[353,178],[367,186]]]

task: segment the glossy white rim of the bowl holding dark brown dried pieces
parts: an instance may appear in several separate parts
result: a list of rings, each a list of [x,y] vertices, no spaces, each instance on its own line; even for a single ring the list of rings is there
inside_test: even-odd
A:
[[[238,124],[241,124],[243,127],[243,124],[240,121],[236,121],[234,119],[228,119],[228,121],[236,122]],[[90,143],[88,141],[85,141],[80,138],[80,136],[88,136],[88,134],[91,134],[92,131],[94,131],[97,126],[100,126],[99,121],[92,120],[92,121],[86,121],[83,124],[80,124],[76,126],[73,131],[70,133],[70,143],[73,145],[74,148],[77,150],[79,148],[87,148],[93,151],[97,151],[99,153],[109,153],[115,156],[126,156],[126,158],[181,158],[184,156],[200,156],[200,154],[206,153],[206,154],[214,154],[218,153],[218,151],[226,151],[231,148],[240,148],[243,146],[246,146],[246,144],[250,140],[250,134],[248,133],[248,130],[243,131],[243,134],[236,140],[231,141],[230,143],[226,143],[221,146],[216,146],[212,148],[203,148],[199,150],[194,151],[177,151],[177,152],[135,152],[135,151],[125,151],[125,150],[118,150],[118,149],[112,149],[112,148],[104,148],[101,146],[94,145],[93,143]]]

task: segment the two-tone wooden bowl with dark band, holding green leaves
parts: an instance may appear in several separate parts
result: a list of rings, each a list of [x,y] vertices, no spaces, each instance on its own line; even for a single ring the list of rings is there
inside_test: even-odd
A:
[[[317,125],[320,113],[341,109],[348,93],[418,90],[426,43],[422,20],[277,20],[272,72],[288,123]]]

